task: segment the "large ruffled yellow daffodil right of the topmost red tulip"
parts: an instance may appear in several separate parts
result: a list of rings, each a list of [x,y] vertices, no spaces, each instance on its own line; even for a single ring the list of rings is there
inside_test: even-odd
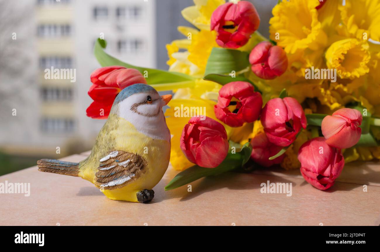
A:
[[[284,47],[287,53],[298,49],[318,49],[327,43],[327,37],[318,21],[318,0],[289,0],[274,6],[269,20],[270,38]],[[296,14],[295,14],[296,13]]]

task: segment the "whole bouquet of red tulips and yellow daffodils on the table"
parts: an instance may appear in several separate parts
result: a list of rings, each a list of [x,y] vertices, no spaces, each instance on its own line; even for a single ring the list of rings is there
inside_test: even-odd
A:
[[[92,118],[107,118],[117,93],[146,83],[173,90],[166,110],[171,190],[236,169],[300,169],[320,190],[345,163],[380,159],[380,0],[280,0],[270,37],[247,1],[194,0],[166,46],[168,71],[105,53],[92,73]],[[103,113],[102,113],[103,112]]]

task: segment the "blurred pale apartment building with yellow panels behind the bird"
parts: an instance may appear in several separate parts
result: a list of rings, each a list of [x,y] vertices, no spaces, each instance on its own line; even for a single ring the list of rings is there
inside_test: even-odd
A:
[[[92,102],[87,95],[90,74],[100,67],[94,41],[104,34],[108,53],[133,65],[155,67],[155,0],[33,0],[30,6],[27,26],[32,37],[20,34],[17,39],[31,40],[26,67],[32,83],[23,88],[28,99],[11,100],[17,116],[9,112],[2,117],[0,148],[9,154],[47,157],[57,157],[57,147],[61,156],[89,149],[105,122],[86,116]],[[76,69],[76,82],[45,79],[44,70],[51,67]],[[2,75],[2,82],[22,81],[17,80],[21,76]]]

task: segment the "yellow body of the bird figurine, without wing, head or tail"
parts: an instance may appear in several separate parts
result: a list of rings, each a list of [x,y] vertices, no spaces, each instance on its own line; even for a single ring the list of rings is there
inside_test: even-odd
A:
[[[170,159],[170,143],[145,136],[125,120],[119,119],[114,123],[119,125],[117,127],[119,130],[108,128],[107,133],[104,132],[105,134],[98,137],[91,155],[81,164],[79,176],[94,183],[100,159],[110,151],[119,150],[138,154],[146,160],[144,173],[125,187],[102,190],[109,199],[138,202],[136,193],[144,189],[152,189],[165,174]],[[120,128],[123,130],[121,131]]]

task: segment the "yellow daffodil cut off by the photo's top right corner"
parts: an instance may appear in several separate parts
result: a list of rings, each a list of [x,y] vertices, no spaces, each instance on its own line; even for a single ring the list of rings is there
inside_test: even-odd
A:
[[[339,6],[348,33],[359,40],[380,40],[380,1],[346,0]]]

